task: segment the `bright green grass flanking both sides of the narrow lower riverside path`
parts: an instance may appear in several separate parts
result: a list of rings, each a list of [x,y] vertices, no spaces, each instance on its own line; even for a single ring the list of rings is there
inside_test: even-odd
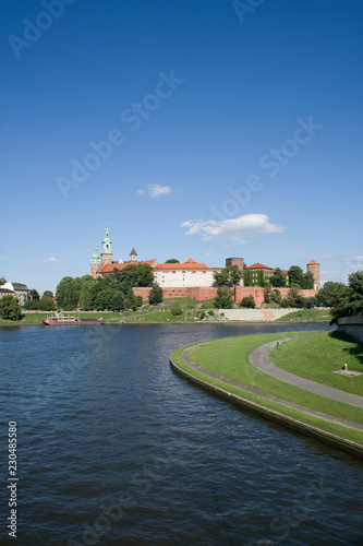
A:
[[[273,394],[276,397],[310,407],[317,412],[327,413],[336,417],[341,417],[348,420],[363,424],[363,412],[361,410],[349,404],[330,401],[303,389],[299,389],[298,387],[293,387],[274,379],[257,370],[250,364],[249,355],[255,348],[257,348],[263,343],[268,343],[270,341],[279,340],[286,336],[287,333],[275,333],[213,340],[193,348],[190,352],[189,356],[195,364],[210,371],[219,373],[226,378],[238,381],[243,385],[253,387],[254,389],[258,389],[263,392]],[[308,339],[312,340],[312,337],[313,336],[310,336]],[[281,345],[281,347],[283,345]],[[190,373],[196,377],[201,377],[205,381],[221,387],[225,390],[227,389],[229,392],[237,393],[242,397],[262,404],[265,407],[278,411],[285,415],[297,418],[308,425],[314,425],[316,427],[323,428],[324,430],[337,434],[338,436],[351,439],[353,441],[356,441],[358,443],[363,444],[363,432],[347,429],[339,424],[328,423],[317,417],[302,414],[297,410],[285,407],[278,402],[268,401],[253,393],[241,391],[240,389],[232,385],[228,385],[226,388],[226,384],[222,383],[222,381],[219,381],[217,379],[215,380],[202,372],[192,369],[190,366],[184,364],[181,358],[183,348],[185,347],[182,347],[174,352],[171,358],[178,366],[180,366],[182,369],[185,369]]]

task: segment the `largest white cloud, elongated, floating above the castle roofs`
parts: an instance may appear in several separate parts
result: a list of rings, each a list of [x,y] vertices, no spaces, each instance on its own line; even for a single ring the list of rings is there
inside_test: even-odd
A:
[[[246,242],[246,237],[264,234],[280,234],[283,227],[270,224],[266,214],[246,214],[238,218],[223,221],[184,222],[181,227],[187,227],[186,235],[201,235],[206,240],[230,238],[239,245]]]

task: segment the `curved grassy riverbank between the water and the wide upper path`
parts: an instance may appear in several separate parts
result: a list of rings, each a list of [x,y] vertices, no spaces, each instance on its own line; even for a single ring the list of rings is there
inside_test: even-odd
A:
[[[194,367],[185,361],[185,347],[181,347],[171,355],[171,363],[179,373],[219,396],[363,458],[363,431],[359,430],[363,412],[287,384],[251,365],[253,351],[286,335],[247,335],[197,344],[187,355]],[[234,383],[226,382],[230,380]],[[330,419],[324,418],[324,414]],[[342,425],[342,420],[356,424],[358,429]]]

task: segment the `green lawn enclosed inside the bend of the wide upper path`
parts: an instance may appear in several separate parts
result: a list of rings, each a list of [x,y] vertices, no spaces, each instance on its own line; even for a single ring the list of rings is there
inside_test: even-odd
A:
[[[270,360],[280,368],[305,379],[363,396],[363,376],[332,373],[344,364],[363,372],[363,344],[339,339],[336,332],[322,332],[275,347]]]

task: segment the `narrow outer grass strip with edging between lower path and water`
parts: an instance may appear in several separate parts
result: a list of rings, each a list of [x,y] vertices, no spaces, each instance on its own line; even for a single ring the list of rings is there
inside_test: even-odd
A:
[[[199,384],[202,388],[211,391],[215,394],[238,404],[239,406],[263,415],[269,420],[279,423],[290,429],[318,438],[322,441],[334,444],[335,447],[363,459],[363,432],[304,414],[291,407],[283,406],[278,402],[266,400],[257,394],[243,391],[234,385],[226,384],[221,380],[211,378],[195,370],[194,368],[191,368],[182,359],[182,352],[190,346],[199,344],[201,343],[192,343],[180,347],[172,353],[170,363],[176,371],[186,377],[192,382]]]

